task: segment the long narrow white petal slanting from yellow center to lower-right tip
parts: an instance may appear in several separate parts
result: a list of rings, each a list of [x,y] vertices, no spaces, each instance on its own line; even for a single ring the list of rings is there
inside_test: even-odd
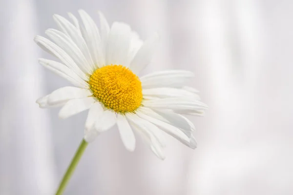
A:
[[[181,143],[185,144],[186,146],[190,147],[190,143],[189,143],[189,137],[187,137],[182,131],[180,131],[178,128],[169,125],[166,122],[163,122],[161,120],[158,120],[156,118],[152,118],[149,116],[146,116],[145,114],[143,114],[140,111],[136,112],[137,116],[159,126],[162,128],[163,131],[165,131],[167,134],[169,134],[170,136],[176,138],[177,140],[179,140]]]

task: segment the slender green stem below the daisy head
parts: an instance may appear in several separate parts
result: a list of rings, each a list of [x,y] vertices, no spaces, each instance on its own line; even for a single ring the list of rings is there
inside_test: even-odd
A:
[[[88,145],[88,143],[83,139],[79,148],[77,149],[77,151],[75,152],[75,155],[73,156],[72,160],[71,160],[71,163],[69,165],[69,167],[67,168],[67,171],[65,173],[65,175],[63,176],[62,178],[62,181],[59,185],[59,188],[56,192],[56,195],[62,195],[64,190],[65,190],[65,187],[67,186],[67,183],[69,181],[69,179],[71,178],[77,164],[79,163],[81,157],[83,156],[84,154],[84,150],[86,148],[86,146]]]

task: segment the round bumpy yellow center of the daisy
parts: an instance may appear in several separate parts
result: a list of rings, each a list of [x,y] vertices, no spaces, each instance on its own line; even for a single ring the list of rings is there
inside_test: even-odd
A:
[[[117,113],[133,112],[141,105],[142,83],[122,65],[107,65],[97,69],[88,83],[93,96]]]

